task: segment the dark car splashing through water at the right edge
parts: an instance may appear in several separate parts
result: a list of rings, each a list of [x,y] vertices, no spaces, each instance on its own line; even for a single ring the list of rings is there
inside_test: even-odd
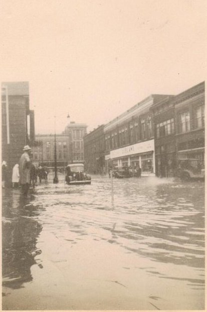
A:
[[[175,175],[182,180],[204,179],[204,164],[195,158],[179,159]]]

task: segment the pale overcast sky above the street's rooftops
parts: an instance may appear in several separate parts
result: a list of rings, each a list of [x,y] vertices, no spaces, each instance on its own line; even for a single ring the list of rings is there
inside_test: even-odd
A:
[[[204,80],[205,0],[3,0],[2,81],[29,81],[37,133],[88,131]]]

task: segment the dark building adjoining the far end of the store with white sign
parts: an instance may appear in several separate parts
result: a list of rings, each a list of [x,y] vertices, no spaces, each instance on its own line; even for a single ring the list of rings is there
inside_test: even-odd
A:
[[[94,174],[106,173],[104,125],[85,135],[83,141],[86,171]]]

